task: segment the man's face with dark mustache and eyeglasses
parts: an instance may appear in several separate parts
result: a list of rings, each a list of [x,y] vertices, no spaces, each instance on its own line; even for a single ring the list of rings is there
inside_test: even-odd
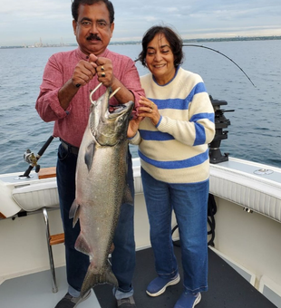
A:
[[[85,54],[103,53],[111,41],[114,23],[110,24],[110,14],[106,5],[80,5],[77,22],[73,20],[76,41]]]

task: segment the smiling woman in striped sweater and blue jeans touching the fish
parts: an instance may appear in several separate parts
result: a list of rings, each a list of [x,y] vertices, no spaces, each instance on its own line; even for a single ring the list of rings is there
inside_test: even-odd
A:
[[[191,308],[208,290],[208,143],[215,135],[214,111],[198,74],[180,67],[182,41],[166,26],[142,39],[140,77],[146,97],[128,137],[139,145],[141,178],[150,220],[150,242],[158,276],[147,294],[158,296],[179,283],[171,239],[174,210],[181,244],[184,292],[174,308]]]

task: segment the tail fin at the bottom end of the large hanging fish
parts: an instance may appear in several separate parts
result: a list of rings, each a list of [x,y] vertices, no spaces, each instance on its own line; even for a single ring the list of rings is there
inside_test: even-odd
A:
[[[104,266],[102,273],[96,273],[96,267],[91,263],[88,267],[88,271],[85,275],[84,281],[81,288],[81,296],[86,294],[89,290],[92,289],[97,284],[112,284],[118,288],[118,281],[115,275],[112,273],[111,265],[108,263]]]

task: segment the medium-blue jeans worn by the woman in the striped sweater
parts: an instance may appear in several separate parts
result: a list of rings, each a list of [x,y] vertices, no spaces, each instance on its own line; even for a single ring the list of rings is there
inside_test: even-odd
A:
[[[172,278],[179,273],[171,238],[174,210],[179,226],[185,292],[207,291],[208,180],[194,184],[170,184],[152,178],[143,168],[141,179],[157,274]]]

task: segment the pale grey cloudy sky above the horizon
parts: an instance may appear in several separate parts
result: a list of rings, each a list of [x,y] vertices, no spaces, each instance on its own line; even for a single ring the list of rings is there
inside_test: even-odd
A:
[[[153,24],[184,39],[281,35],[281,0],[111,0],[112,42],[141,40]],[[75,43],[71,0],[1,1],[0,46]]]

